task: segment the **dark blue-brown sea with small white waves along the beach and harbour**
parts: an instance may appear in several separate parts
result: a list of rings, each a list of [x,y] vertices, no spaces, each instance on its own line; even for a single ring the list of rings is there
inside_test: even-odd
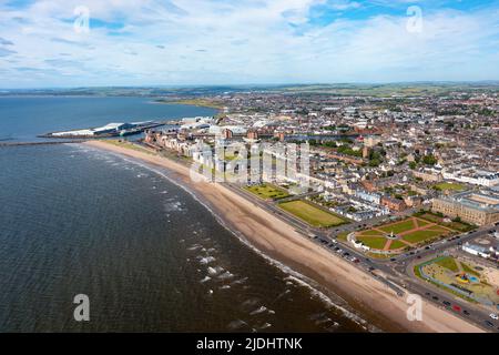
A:
[[[0,99],[0,135],[212,114],[135,98]],[[167,172],[82,145],[0,148],[0,332],[363,332]],[[73,297],[90,298],[90,322]]]

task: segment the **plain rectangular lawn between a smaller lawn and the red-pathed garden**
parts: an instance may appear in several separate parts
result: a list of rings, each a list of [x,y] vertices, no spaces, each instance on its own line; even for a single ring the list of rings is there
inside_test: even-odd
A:
[[[279,207],[313,226],[329,227],[347,223],[344,219],[320,210],[305,201],[281,203]]]

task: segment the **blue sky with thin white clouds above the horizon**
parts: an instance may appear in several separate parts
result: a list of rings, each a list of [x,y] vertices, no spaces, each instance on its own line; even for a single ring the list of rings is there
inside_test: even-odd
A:
[[[499,80],[499,0],[0,0],[0,88]]]

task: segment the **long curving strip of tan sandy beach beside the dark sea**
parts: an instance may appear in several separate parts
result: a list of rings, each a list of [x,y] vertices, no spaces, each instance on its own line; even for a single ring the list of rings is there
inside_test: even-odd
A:
[[[388,332],[482,332],[477,326],[422,301],[424,322],[409,322],[408,305],[377,280],[330,254],[293,226],[220,184],[194,183],[189,168],[173,160],[151,153],[112,145],[102,141],[83,144],[126,155],[162,166],[172,173],[172,179],[200,195],[214,210],[223,224],[242,234],[254,248],[276,262],[303,274],[327,290],[339,295],[353,308],[366,315],[366,320]],[[348,275],[348,277],[345,277]],[[322,290],[320,290],[322,291]]]

